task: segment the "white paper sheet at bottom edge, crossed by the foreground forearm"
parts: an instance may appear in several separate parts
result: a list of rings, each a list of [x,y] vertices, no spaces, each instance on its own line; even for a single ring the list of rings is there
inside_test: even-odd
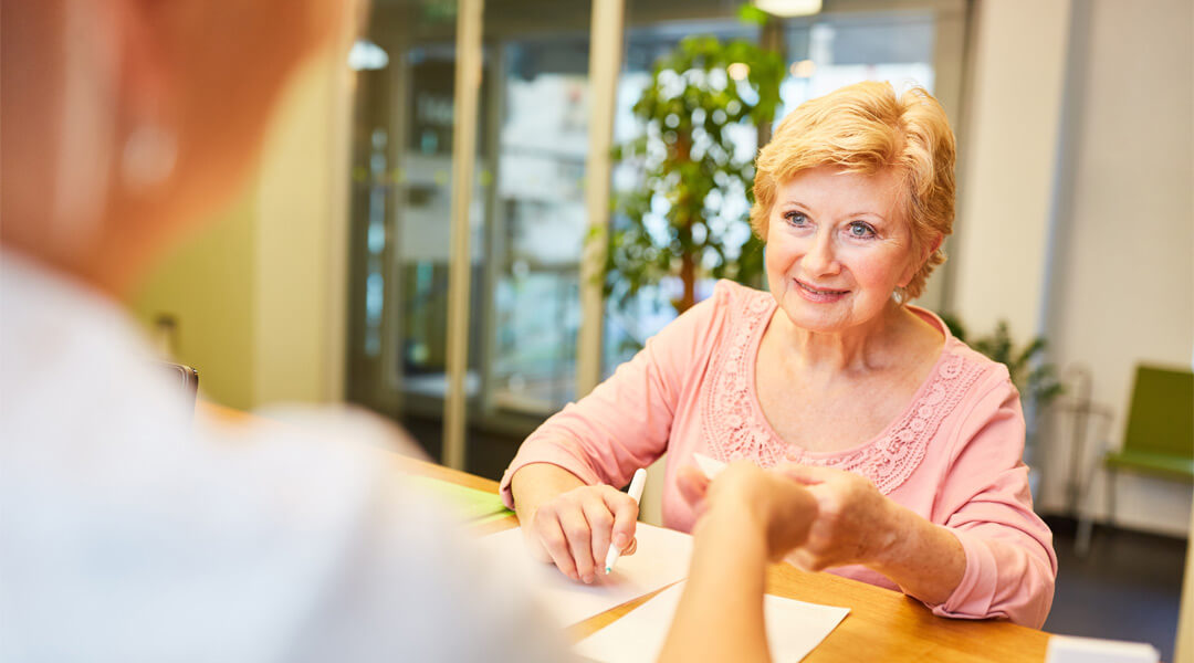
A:
[[[669,587],[629,614],[577,644],[577,653],[604,663],[650,663],[659,657],[684,583]],[[796,663],[808,656],[850,613],[792,599],[763,597],[771,659]]]

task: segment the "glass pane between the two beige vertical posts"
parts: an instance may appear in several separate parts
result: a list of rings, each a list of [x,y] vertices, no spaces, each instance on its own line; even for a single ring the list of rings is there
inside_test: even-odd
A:
[[[589,35],[511,35],[499,48],[487,409],[546,416],[576,392]]]

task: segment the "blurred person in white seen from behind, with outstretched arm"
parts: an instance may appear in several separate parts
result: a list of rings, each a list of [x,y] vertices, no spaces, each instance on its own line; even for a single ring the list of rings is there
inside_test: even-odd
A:
[[[0,658],[567,658],[525,590],[402,490],[383,448],[400,433],[319,413],[191,426],[119,304],[236,193],[283,83],[350,32],[347,14],[0,4]],[[763,566],[816,513],[778,473],[725,477],[685,483],[707,571],[665,659],[765,659]],[[719,615],[725,602],[740,609]]]

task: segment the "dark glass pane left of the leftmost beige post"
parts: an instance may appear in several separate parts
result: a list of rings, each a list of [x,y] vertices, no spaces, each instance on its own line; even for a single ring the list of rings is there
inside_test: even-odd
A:
[[[352,128],[349,398],[405,423],[432,454],[447,383],[455,38],[453,1],[376,4],[350,60],[365,68]]]

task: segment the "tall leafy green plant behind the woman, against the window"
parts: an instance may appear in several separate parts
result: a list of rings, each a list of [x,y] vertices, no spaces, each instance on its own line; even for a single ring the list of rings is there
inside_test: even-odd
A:
[[[778,54],[710,36],[688,37],[656,62],[634,105],[644,130],[614,150],[615,160],[641,165],[642,185],[614,197],[607,297],[621,304],[677,277],[683,290],[671,304],[683,312],[702,277],[757,284],[763,247],[741,205],[753,186],[753,154],[739,157],[727,128],[769,128],[783,73]]]

